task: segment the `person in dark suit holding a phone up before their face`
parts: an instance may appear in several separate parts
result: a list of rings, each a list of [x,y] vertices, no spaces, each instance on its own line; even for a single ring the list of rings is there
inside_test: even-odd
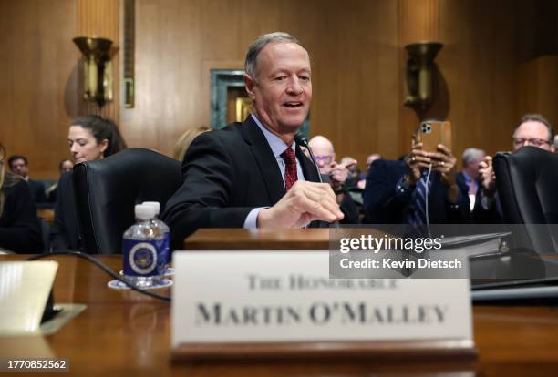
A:
[[[417,141],[404,160],[374,161],[363,193],[366,221],[418,225],[469,221],[467,189],[456,182],[455,162],[448,148],[439,145],[438,151],[427,152]]]

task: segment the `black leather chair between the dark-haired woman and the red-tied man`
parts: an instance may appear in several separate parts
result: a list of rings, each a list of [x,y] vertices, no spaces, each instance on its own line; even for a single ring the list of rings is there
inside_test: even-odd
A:
[[[130,148],[74,166],[79,228],[88,253],[121,252],[122,234],[142,201],[164,205],[182,183],[181,163],[149,149]]]

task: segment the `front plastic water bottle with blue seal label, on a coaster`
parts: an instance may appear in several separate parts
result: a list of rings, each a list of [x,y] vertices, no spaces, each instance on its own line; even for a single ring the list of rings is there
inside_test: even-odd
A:
[[[124,232],[124,279],[140,288],[160,285],[165,266],[163,231],[151,219],[155,210],[138,204],[136,223]]]

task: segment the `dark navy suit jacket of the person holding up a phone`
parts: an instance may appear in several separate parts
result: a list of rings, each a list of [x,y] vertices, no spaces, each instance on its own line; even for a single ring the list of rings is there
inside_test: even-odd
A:
[[[400,178],[409,173],[405,161],[378,159],[367,176],[363,192],[367,222],[372,224],[405,224],[412,195],[400,195],[396,186]],[[435,223],[470,222],[470,202],[467,187],[460,186],[460,200],[452,206],[446,200],[446,186],[441,182],[439,173],[430,175],[432,185],[429,192],[429,221]]]

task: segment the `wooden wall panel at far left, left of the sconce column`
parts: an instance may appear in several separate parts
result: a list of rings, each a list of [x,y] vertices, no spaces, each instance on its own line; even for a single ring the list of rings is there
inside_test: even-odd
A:
[[[78,88],[71,43],[75,31],[73,0],[0,2],[3,17],[0,59],[3,75],[0,138],[8,154],[29,159],[33,178],[57,178],[67,158],[67,126],[76,114]],[[56,27],[53,27],[56,25]],[[5,141],[4,141],[5,140]]]

